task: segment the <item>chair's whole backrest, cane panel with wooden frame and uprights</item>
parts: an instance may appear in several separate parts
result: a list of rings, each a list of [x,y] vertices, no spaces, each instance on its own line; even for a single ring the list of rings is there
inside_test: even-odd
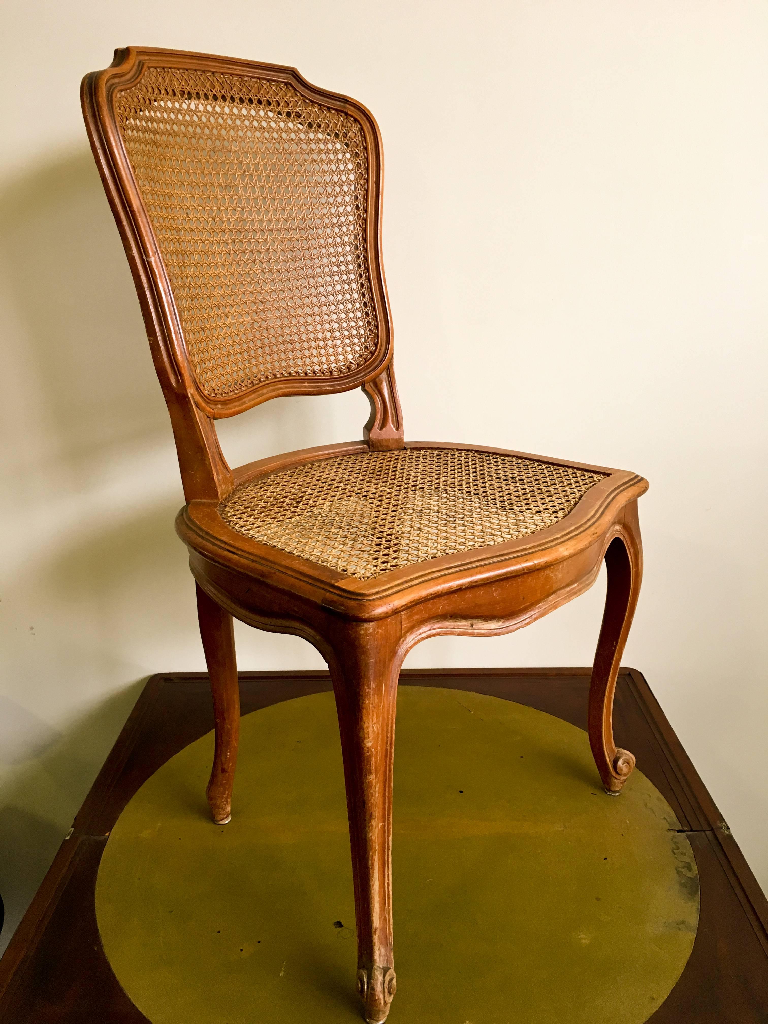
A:
[[[370,447],[401,447],[368,111],[292,68],[134,47],[82,101],[187,501],[232,487],[212,421],[278,395],[361,386]]]

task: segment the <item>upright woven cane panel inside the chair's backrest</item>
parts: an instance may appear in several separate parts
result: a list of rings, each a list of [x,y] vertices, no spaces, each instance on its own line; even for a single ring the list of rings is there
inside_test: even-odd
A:
[[[198,383],[334,377],[377,344],[360,124],[286,82],[147,68],[115,116]]]

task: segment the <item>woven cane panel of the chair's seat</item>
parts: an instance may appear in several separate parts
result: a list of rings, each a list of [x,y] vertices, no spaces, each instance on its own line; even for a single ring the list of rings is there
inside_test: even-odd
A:
[[[551,526],[603,476],[492,452],[371,452],[244,483],[219,512],[254,541],[371,580]]]

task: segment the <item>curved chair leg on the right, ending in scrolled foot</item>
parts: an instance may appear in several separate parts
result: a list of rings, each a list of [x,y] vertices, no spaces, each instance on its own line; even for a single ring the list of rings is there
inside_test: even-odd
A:
[[[635,757],[613,742],[613,693],[642,578],[637,505],[625,513],[625,529],[605,552],[608,590],[589,696],[589,737],[605,792],[617,797],[635,767]]]

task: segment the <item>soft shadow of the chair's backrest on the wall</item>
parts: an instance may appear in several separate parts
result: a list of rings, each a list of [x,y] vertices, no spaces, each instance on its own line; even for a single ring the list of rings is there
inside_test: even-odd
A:
[[[89,151],[0,196],[0,256],[56,457],[76,469],[167,431],[133,282]]]

